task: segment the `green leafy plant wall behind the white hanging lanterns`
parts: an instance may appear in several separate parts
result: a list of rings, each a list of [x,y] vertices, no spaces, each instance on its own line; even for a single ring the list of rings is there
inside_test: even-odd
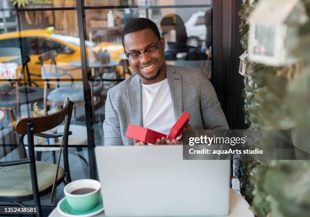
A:
[[[247,18],[258,1],[244,0],[241,45],[247,50]],[[303,1],[310,17],[310,0]],[[309,129],[310,132],[310,25],[300,28],[293,51],[301,61],[285,67],[247,63],[244,76],[245,120],[249,129]],[[298,133],[297,133],[298,136]],[[310,138],[301,141],[305,149]],[[241,193],[256,216],[310,216],[310,161],[243,162]]]

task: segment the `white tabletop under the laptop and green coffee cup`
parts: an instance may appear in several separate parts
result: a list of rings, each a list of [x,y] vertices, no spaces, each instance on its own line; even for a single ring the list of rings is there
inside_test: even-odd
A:
[[[229,192],[229,214],[226,215],[227,217],[254,217],[253,212],[249,209],[249,204],[247,201],[237,192],[230,189]],[[61,215],[57,207],[51,212],[49,215],[50,217],[60,217]],[[104,212],[97,214],[96,216],[104,217],[106,216]],[[212,216],[208,216],[212,217]],[[225,216],[221,216],[225,217]]]

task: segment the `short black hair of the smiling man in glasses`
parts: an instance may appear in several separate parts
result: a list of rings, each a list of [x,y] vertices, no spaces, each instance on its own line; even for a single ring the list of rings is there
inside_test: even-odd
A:
[[[129,20],[122,30],[122,44],[124,48],[125,48],[125,42],[124,42],[125,35],[133,33],[133,32],[137,32],[137,31],[141,31],[144,29],[152,30],[154,34],[158,37],[158,39],[161,38],[161,34],[158,30],[158,27],[153,21],[147,18],[134,18],[132,20]]]

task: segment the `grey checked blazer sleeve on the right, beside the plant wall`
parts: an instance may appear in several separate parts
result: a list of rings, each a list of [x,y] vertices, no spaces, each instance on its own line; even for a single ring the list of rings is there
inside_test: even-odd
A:
[[[200,76],[200,106],[203,123],[206,129],[229,129],[225,114],[217,99],[210,80],[201,72]]]

